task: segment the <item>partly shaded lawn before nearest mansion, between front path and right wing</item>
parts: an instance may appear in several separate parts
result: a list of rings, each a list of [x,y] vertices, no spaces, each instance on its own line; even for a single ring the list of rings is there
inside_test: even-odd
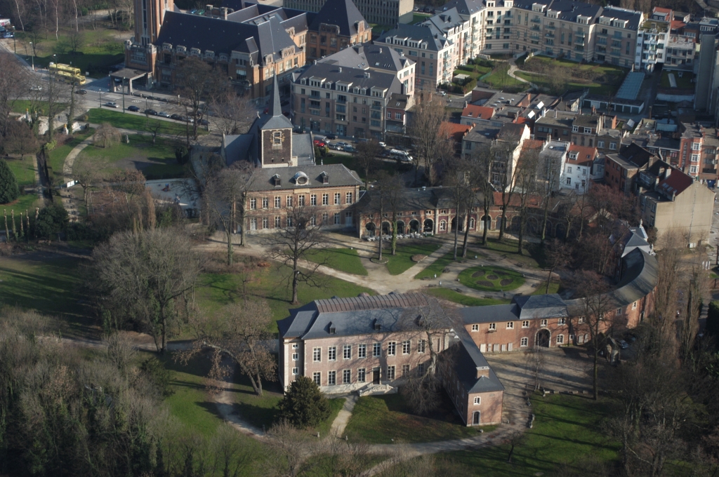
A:
[[[477,435],[477,427],[460,422],[446,395],[438,409],[418,416],[409,411],[401,394],[360,397],[344,433],[371,444],[390,444],[393,439],[395,443],[431,443]]]

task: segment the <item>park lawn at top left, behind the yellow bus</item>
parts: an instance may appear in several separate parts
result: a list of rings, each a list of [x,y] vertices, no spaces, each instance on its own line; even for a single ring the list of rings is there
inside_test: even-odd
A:
[[[59,40],[55,34],[33,35],[32,33],[16,32],[16,47],[19,55],[31,62],[32,46],[29,42],[35,42],[35,68],[47,68],[50,62],[70,63],[80,68],[83,75],[90,73],[93,78],[101,78],[106,75],[111,66],[124,60],[122,52],[122,38],[128,37],[127,32],[119,32],[116,29],[81,30],[78,52],[70,52],[70,34],[72,28],[60,29]],[[11,45],[12,46],[12,45]],[[57,55],[53,57],[53,55]]]

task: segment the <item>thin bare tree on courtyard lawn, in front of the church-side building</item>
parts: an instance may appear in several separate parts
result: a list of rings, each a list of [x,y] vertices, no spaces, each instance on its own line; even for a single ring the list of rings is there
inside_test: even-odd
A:
[[[286,226],[275,228],[264,241],[269,249],[270,259],[280,261],[292,270],[288,282],[292,286],[293,305],[296,305],[297,287],[307,283],[313,287],[321,286],[321,275],[317,269],[324,264],[307,261],[308,254],[320,249],[325,244],[321,231],[321,221],[317,220],[317,210],[313,207],[299,205],[288,210]],[[303,262],[301,264],[301,262]]]

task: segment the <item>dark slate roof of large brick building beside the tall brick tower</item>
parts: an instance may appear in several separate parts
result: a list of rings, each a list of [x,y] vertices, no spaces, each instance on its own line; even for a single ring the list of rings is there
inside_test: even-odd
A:
[[[264,62],[267,55],[277,57],[280,50],[296,48],[277,16],[262,24],[246,24],[175,11],[165,12],[155,44],[161,47],[163,43],[182,45],[188,52],[191,48],[227,55],[233,51],[244,52],[252,55],[256,64]]]

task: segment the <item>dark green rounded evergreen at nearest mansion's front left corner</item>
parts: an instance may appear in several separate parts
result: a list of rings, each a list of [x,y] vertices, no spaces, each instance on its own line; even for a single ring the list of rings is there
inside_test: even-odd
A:
[[[316,427],[329,417],[329,402],[307,376],[297,376],[280,404],[280,417],[299,429]]]

